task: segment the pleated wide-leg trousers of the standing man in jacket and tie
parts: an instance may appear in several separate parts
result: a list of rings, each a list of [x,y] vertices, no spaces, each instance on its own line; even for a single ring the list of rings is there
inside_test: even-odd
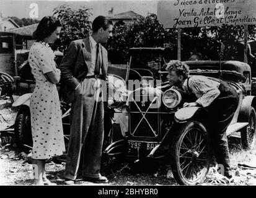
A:
[[[74,93],[68,157],[64,172],[64,177],[67,179],[76,179],[79,163],[82,165],[83,177],[100,177],[100,157],[104,140],[104,103],[99,98],[98,100],[95,98],[97,95],[95,82],[94,78],[84,79]]]

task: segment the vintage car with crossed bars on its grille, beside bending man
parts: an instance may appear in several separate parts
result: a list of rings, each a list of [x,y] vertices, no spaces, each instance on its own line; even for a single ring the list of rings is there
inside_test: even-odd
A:
[[[112,142],[105,149],[104,155],[125,157],[126,160],[135,162],[150,159],[170,164],[179,184],[198,184],[205,179],[211,163],[211,144],[207,132],[211,115],[200,107],[182,108],[184,101],[195,101],[195,97],[169,86],[161,51],[161,48],[130,49],[128,80],[142,82],[143,79],[154,79],[154,82],[149,83],[148,80],[148,85],[142,82],[140,87],[128,89],[128,94],[122,95],[121,99],[114,98],[110,103],[110,106],[119,109],[115,112],[117,122],[114,124],[119,124],[123,139]],[[139,62],[138,57],[143,57],[143,53],[147,53],[149,59]],[[158,62],[158,67],[153,64],[152,69],[152,61]],[[256,99],[250,95],[249,65],[239,61],[185,63],[190,66],[190,75],[220,78],[236,89],[239,106],[227,128],[227,135],[241,134],[244,149],[253,147]],[[161,83],[156,82],[157,80],[161,80]],[[123,84],[125,83],[127,84],[123,80]],[[121,103],[123,98],[125,101]],[[113,129],[118,130],[118,127]]]

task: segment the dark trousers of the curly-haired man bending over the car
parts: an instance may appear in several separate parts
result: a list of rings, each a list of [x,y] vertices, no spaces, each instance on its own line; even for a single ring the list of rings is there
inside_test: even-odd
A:
[[[226,82],[219,85],[221,92],[211,105],[206,107],[210,116],[209,135],[213,143],[216,162],[223,165],[224,173],[231,171],[226,130],[236,112],[239,97],[236,90]]]

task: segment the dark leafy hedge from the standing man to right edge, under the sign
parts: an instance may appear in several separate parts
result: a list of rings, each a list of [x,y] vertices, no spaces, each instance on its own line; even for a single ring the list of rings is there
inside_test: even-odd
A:
[[[253,38],[255,25],[249,25],[248,32]],[[237,43],[243,37],[243,26],[182,28],[182,61],[188,60],[192,54],[199,54],[205,60],[219,60],[221,46],[224,47],[221,59],[238,59],[237,56],[242,54],[237,55]],[[114,64],[125,64],[129,48],[164,47],[165,43],[169,43],[171,57],[177,59],[177,29],[164,29],[156,14],[149,14],[137,19],[134,24],[115,25],[113,37],[107,43],[109,59]]]

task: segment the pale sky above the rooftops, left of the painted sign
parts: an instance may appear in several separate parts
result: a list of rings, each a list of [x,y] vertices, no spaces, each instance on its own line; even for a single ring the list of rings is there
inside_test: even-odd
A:
[[[38,20],[42,19],[45,15],[52,15],[53,9],[62,4],[68,4],[73,9],[79,9],[80,6],[86,6],[86,8],[92,8],[93,20],[97,15],[108,15],[108,11],[113,7],[114,14],[119,14],[126,11],[134,11],[140,15],[146,16],[148,12],[157,13],[157,0],[0,0],[0,12],[3,17],[15,16],[18,18],[30,18],[30,12],[32,11],[31,4],[38,5]]]

